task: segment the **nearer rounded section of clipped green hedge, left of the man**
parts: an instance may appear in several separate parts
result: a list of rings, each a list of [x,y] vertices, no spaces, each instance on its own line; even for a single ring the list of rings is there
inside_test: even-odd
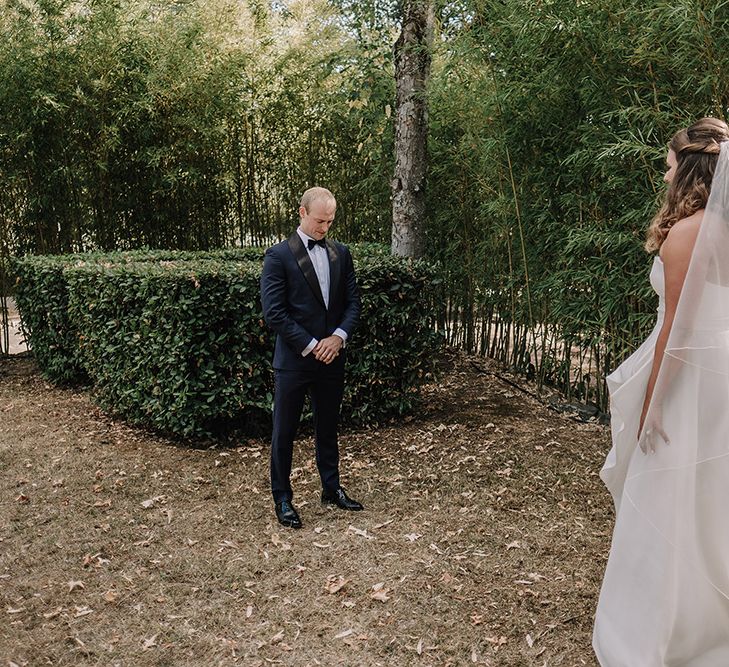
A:
[[[271,403],[256,262],[78,264],[69,314],[102,407],[191,436]]]

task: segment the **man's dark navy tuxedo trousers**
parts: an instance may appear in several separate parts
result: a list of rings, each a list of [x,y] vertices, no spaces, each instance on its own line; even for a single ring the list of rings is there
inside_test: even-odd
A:
[[[271,491],[276,503],[293,498],[291,459],[307,394],[314,413],[316,465],[322,488],[339,488],[337,430],[344,394],[344,365],[337,361],[329,365],[317,362],[305,370],[274,371]]]

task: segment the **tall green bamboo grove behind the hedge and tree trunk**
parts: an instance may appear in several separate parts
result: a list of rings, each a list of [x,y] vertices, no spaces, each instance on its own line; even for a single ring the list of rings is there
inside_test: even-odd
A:
[[[338,196],[339,238],[389,241],[397,3],[0,4],[3,258],[264,245],[313,183]],[[440,325],[604,409],[605,375],[654,317],[642,243],[666,143],[729,112],[729,2],[436,13]]]

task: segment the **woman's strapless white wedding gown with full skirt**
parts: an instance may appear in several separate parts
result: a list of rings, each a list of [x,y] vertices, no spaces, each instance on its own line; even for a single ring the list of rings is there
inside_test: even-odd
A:
[[[600,476],[616,519],[593,647],[603,667],[729,667],[729,345],[716,308],[702,312],[729,290],[714,286],[696,308],[714,329],[675,348],[680,369],[662,403],[670,444],[645,455],[637,432],[665,309],[658,257],[650,280],[656,327],[607,378],[613,447]]]

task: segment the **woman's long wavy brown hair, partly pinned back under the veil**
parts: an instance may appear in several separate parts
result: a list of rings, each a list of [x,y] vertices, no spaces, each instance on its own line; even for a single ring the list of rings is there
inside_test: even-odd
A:
[[[668,231],[682,218],[704,208],[709,200],[719,144],[729,140],[729,126],[718,118],[702,118],[673,135],[668,147],[676,154],[676,173],[666,198],[648,228],[645,249],[657,252]]]

